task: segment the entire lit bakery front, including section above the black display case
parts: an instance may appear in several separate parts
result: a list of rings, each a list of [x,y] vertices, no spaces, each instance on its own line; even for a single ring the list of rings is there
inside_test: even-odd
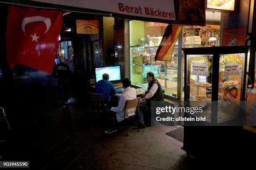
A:
[[[215,17],[215,18],[214,18]],[[212,19],[214,18],[214,20]],[[182,48],[217,47],[220,45],[220,13],[206,11],[209,24],[205,26],[183,26],[175,42],[172,56],[168,60],[155,60],[164,32],[168,24],[129,20],[126,29],[129,30],[129,40],[125,41],[129,47],[129,63],[132,84],[146,88],[146,73],[154,72],[156,79],[165,91],[165,97],[170,100],[182,100],[184,83],[184,60]],[[171,59],[171,60],[170,60]]]

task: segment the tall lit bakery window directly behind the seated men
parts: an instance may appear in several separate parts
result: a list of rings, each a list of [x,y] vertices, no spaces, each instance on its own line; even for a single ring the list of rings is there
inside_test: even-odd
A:
[[[168,24],[130,21],[131,81],[138,87],[148,87],[146,73],[154,72],[166,95],[177,97],[178,41],[171,61],[155,61],[156,51]]]

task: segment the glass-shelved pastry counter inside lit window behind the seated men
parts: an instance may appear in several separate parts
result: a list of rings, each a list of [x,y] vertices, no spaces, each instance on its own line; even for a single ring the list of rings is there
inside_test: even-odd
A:
[[[174,47],[171,61],[155,61],[155,47],[131,47],[131,80],[133,85],[148,87],[147,72],[154,72],[167,95],[177,97],[177,53],[178,46]]]

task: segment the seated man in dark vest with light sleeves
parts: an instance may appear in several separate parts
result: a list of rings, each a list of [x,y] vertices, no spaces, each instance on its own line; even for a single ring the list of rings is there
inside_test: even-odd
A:
[[[146,80],[148,82],[148,89],[142,93],[138,107],[139,128],[145,128],[143,111],[146,110],[147,107],[151,107],[151,101],[164,101],[162,87],[159,81],[155,79],[154,73],[148,72]]]

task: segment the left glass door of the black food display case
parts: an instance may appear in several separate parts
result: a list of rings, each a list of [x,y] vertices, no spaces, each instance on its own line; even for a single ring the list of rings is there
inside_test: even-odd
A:
[[[213,55],[187,55],[187,94],[192,107],[207,106],[207,110],[189,116],[205,116],[211,122]],[[200,115],[199,115],[200,114]]]

